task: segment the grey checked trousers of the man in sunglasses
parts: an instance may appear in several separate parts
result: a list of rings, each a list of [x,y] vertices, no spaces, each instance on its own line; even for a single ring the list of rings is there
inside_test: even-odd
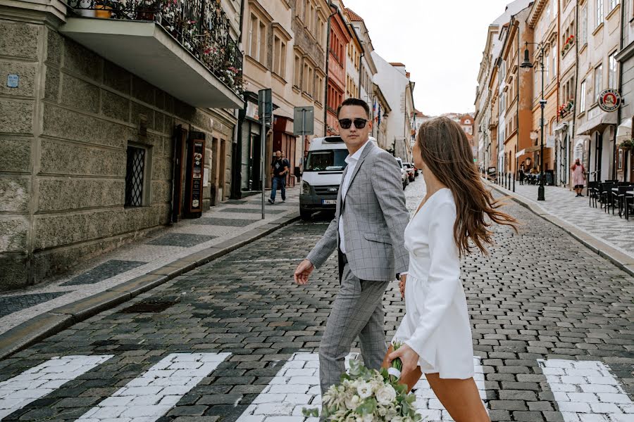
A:
[[[359,336],[363,363],[379,369],[387,352],[383,325],[383,293],[389,281],[359,280],[346,263],[341,287],[328,317],[319,346],[319,381],[323,395],[338,384],[345,371],[344,359]]]

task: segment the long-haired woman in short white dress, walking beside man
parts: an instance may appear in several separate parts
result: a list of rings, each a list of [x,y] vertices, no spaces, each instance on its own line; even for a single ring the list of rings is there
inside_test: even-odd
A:
[[[473,344],[460,257],[473,245],[487,253],[490,222],[515,227],[497,210],[480,181],[471,146],[459,124],[439,117],[421,125],[412,149],[427,195],[405,229],[409,272],[400,284],[406,314],[394,335],[387,366],[402,359],[401,382],[409,390],[424,373],[435,395],[456,422],[489,422],[473,381]]]

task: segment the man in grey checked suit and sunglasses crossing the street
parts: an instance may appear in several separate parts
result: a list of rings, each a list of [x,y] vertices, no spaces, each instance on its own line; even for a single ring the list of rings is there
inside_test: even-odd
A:
[[[308,283],[313,269],[338,247],[341,286],[319,347],[322,394],[339,383],[344,358],[357,336],[363,362],[368,368],[380,368],[387,352],[383,293],[394,276],[404,280],[409,267],[404,247],[409,212],[399,165],[368,141],[372,122],[365,101],[348,98],[337,117],[349,155],[335,219],[294,274],[297,284]]]

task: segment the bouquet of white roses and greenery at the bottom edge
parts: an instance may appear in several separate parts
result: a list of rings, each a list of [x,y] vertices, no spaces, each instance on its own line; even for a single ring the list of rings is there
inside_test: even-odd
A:
[[[394,344],[396,350],[400,344]],[[349,373],[341,376],[339,385],[332,385],[322,397],[323,418],[330,422],[417,422],[416,396],[407,394],[399,384],[402,362],[396,359],[390,369],[367,369],[355,359]],[[304,416],[319,416],[318,409],[304,409]]]

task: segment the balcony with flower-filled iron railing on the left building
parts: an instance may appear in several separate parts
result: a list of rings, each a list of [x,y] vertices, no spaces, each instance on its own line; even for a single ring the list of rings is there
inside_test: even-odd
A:
[[[68,0],[61,32],[181,101],[242,108],[242,52],[220,0]]]

